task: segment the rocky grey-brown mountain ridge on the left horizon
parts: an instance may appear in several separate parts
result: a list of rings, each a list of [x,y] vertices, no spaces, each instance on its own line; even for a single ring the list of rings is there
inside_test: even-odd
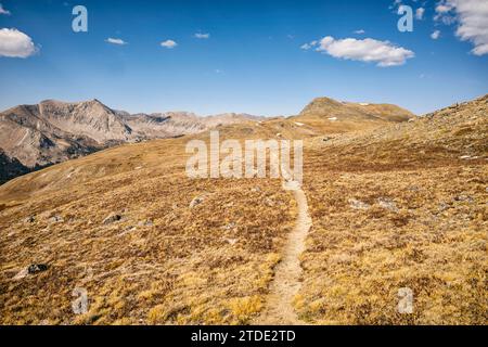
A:
[[[20,105],[0,113],[1,160],[5,162],[0,183],[125,142],[175,138],[256,119],[259,117],[246,114],[198,117],[185,112],[131,115],[97,99]]]

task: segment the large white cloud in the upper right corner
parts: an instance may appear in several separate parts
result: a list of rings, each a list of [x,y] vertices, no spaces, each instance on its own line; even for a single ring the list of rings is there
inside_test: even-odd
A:
[[[488,1],[441,0],[435,20],[445,24],[457,22],[455,36],[473,43],[472,53],[488,54]]]

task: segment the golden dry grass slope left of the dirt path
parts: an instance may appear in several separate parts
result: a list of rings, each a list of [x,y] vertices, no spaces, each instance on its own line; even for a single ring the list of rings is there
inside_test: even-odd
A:
[[[255,317],[293,227],[292,197],[279,180],[188,179],[184,143],[121,146],[3,187],[0,322],[236,324]],[[197,196],[205,201],[190,208]],[[123,220],[104,224],[112,213]],[[36,262],[50,268],[13,280]],[[72,311],[75,287],[88,291],[86,314]]]

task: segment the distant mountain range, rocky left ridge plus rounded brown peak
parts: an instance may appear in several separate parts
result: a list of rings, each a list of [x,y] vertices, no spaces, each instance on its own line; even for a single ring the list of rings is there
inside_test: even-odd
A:
[[[345,132],[413,117],[395,105],[347,103],[329,98],[311,102],[295,126],[317,131]],[[283,119],[283,118],[278,118]],[[201,117],[188,112],[130,114],[99,100],[42,101],[0,113],[0,183],[52,164],[80,157],[121,143],[193,134],[219,126],[258,123],[265,117],[220,114]],[[290,124],[290,123],[288,123]]]

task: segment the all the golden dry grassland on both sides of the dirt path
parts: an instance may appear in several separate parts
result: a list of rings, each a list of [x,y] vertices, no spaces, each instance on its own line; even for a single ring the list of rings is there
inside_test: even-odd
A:
[[[319,134],[329,125],[294,119],[220,128],[228,138],[306,139],[313,226],[300,256],[299,319],[487,324],[487,110],[485,97],[326,141]],[[0,323],[256,318],[296,206],[279,180],[189,180],[189,139],[124,145],[2,185]],[[205,200],[190,208],[196,196]],[[123,220],[104,224],[112,213]],[[35,262],[50,268],[14,280]],[[72,311],[75,287],[88,291],[86,314]],[[413,291],[412,314],[397,311],[401,287]]]

